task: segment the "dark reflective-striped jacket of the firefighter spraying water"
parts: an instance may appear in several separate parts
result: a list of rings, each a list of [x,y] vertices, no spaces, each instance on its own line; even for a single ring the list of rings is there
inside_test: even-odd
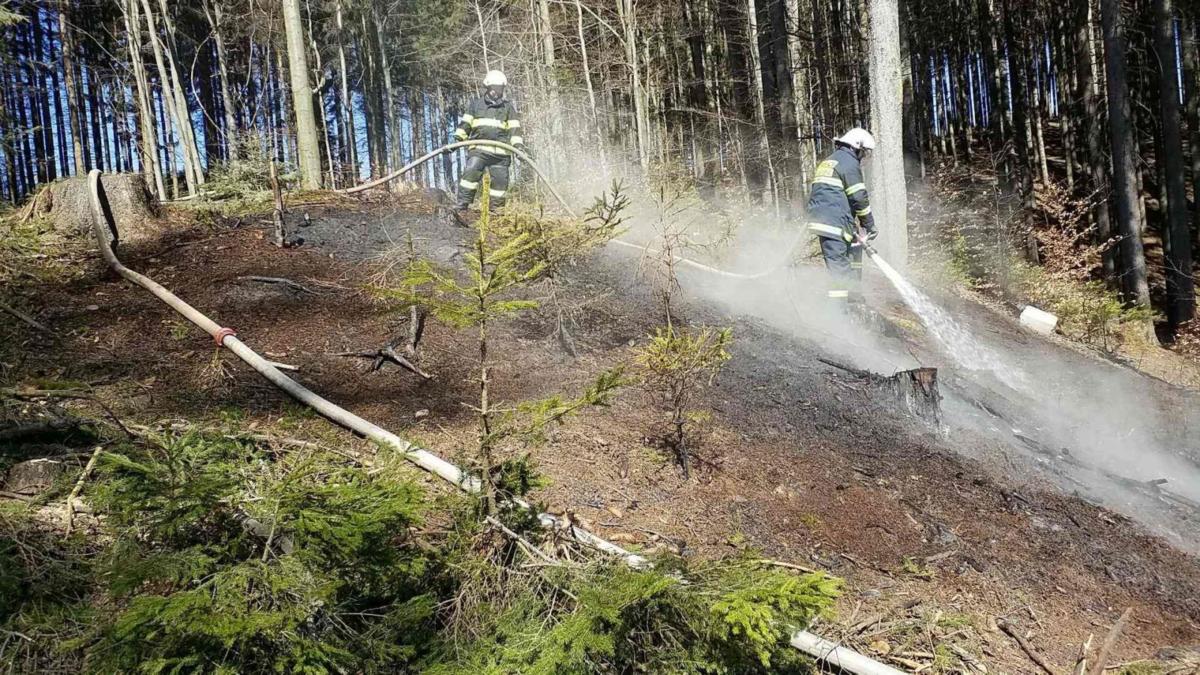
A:
[[[854,225],[875,231],[863,167],[854,150],[839,145],[817,165],[809,192],[809,229],[817,237],[854,240]]]

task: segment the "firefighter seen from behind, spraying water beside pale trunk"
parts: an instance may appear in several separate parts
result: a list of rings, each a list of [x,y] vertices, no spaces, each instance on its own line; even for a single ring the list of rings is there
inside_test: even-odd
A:
[[[863,279],[862,233],[875,239],[878,229],[863,181],[862,161],[875,149],[865,129],[852,129],[838,138],[836,149],[817,165],[809,192],[809,231],[821,239],[821,253],[833,277],[829,298],[846,303]]]

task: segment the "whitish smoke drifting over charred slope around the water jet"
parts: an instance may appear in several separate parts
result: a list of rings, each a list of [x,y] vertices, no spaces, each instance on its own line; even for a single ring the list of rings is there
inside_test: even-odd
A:
[[[1156,494],[1162,489],[1200,502],[1200,398],[1028,334],[1015,317],[976,303],[953,297],[932,300],[905,279],[893,289],[868,263],[871,305],[898,305],[899,295],[924,324],[924,339],[918,335],[916,345],[880,335],[829,306],[828,275],[814,256],[811,237],[803,232],[799,209],[776,211],[745,195],[728,196],[733,190],[721,191],[722,197],[702,196],[690,187],[690,175],[672,180],[679,169],[670,166],[655,167],[648,180],[624,167],[598,165],[600,156],[623,156],[619,148],[605,153],[563,148],[553,155],[556,175],[569,178],[560,190],[580,207],[611,180],[623,181],[632,201],[624,240],[653,252],[670,231],[689,243],[689,250],[679,251],[689,258],[748,275],[769,271],[739,280],[680,268],[682,293],[689,300],[708,304],[734,322],[754,317],[866,370],[889,374],[938,366],[948,399],[943,423],[954,449],[980,458],[985,454],[980,443],[994,443],[1006,455],[1022,456],[1022,471],[1036,470],[1063,491],[1134,518],[1180,548],[1200,550],[1195,525],[1188,524],[1194,513],[1178,510]],[[720,183],[721,177],[710,180]],[[1004,249],[997,228],[1007,226],[1010,214],[998,198],[995,205],[994,211],[970,210],[920,193],[913,209],[916,255],[940,251],[944,238],[934,225],[944,222],[962,227],[971,221],[990,249]],[[1008,261],[1010,253],[1003,250],[995,257]],[[614,255],[637,252],[623,249]],[[950,256],[942,262],[954,263]],[[1150,483],[1163,479],[1160,488]]]

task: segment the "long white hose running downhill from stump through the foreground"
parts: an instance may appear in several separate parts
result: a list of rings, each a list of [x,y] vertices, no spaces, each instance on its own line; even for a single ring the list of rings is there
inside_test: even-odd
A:
[[[440,150],[438,153],[440,153]],[[427,159],[434,156],[437,153],[432,153],[427,155],[424,161],[427,161]],[[102,172],[100,169],[92,169],[91,173],[88,174],[88,189],[92,211],[92,232],[96,235],[96,244],[100,246],[100,252],[103,256],[104,262],[114,271],[116,271],[116,274],[152,293],[160,300],[170,306],[170,309],[181,313],[185,318],[187,318],[187,321],[211,335],[217,345],[227,347],[238,358],[245,362],[246,365],[258,371],[259,375],[265,377],[272,384],[283,389],[295,400],[312,407],[330,422],[349,429],[350,431],[361,434],[376,443],[389,446],[400,450],[410,462],[424,468],[425,471],[428,471],[430,473],[437,474],[466,492],[478,492],[480,490],[481,485],[478,478],[472,477],[458,466],[445,461],[436,454],[424,448],[419,448],[386,429],[383,429],[372,422],[367,422],[353,412],[317,395],[311,389],[284,375],[270,360],[259,356],[258,352],[250,348],[245,342],[238,339],[233,329],[221,327],[218,323],[202,313],[196,307],[185,303],[178,295],[152,279],[125,267],[121,261],[118,259],[116,253],[113,252],[113,247],[109,244],[109,238],[115,235],[118,229],[112,213],[106,208],[108,199],[107,197],[103,197],[103,183],[101,181],[101,175]],[[391,178],[395,178],[396,175],[400,174],[397,173]],[[391,178],[388,178],[388,180]],[[370,186],[371,184],[367,185]],[[557,193],[554,196],[558,197]],[[515,500],[515,503],[522,508],[530,508],[529,503],[523,500]],[[562,528],[563,526],[563,522],[558,518],[548,513],[539,513],[538,520],[546,528]],[[602,539],[582,527],[571,525],[570,532],[580,543],[593,546],[604,552],[619,556],[630,567],[647,568],[652,565],[644,557],[628,551],[612,542]],[[814,635],[808,631],[798,631],[793,633],[790,644],[810,656],[824,661],[834,668],[839,668],[856,675],[902,675],[904,673],[892,668],[890,665],[886,665],[863,656],[848,647],[840,646],[835,643]]]

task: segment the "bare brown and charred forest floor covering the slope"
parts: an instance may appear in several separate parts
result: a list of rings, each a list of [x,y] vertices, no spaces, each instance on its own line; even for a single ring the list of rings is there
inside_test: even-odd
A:
[[[454,261],[467,231],[438,222],[420,198],[313,205],[307,213],[312,226],[300,231],[300,249],[274,247],[258,228],[265,220],[247,219],[238,228],[193,228],[121,255],[260,353],[300,366],[296,378],[313,390],[443,456],[462,456],[475,434],[463,406],[475,395],[469,335],[430,327],[421,360],[436,375],[428,383],[392,366],[367,375],[365,362],[336,354],[378,347],[395,327],[395,317],[362,292],[378,269],[372,256],[412,232],[426,255]],[[554,338],[550,312],[499,327],[494,394],[516,401],[577,392],[602,369],[629,360],[630,345],[658,316],[629,274],[631,264],[608,251],[574,270],[564,295],[578,305],[577,358]],[[218,353],[98,259],[82,258],[79,265],[72,281],[13,283],[10,298],[60,341],[4,324],[5,384],[84,382],[126,420],[184,418],[356,443]],[[313,293],[239,280],[248,275],[288,277]],[[899,316],[895,299],[883,293],[876,306]],[[1114,663],[1200,658],[1200,561],[1186,545],[1172,545],[1169,533],[1192,536],[1186,512],[1172,512],[1169,532],[1156,527],[1156,534],[1146,519],[1097,506],[1103,500],[1088,494],[1097,484],[1072,474],[1078,462],[1058,447],[1061,434],[1039,438],[1042,426],[1033,425],[1022,430],[1027,441],[1014,442],[1012,429],[996,422],[1030,411],[1013,392],[978,383],[986,378],[946,368],[947,428],[934,429],[860,377],[817,360],[828,354],[818,341],[743,309],[749,313],[736,304],[696,301],[684,312],[696,323],[736,327],[733,359],[704,401],[713,422],[691,480],[654,441],[665,422],[660,402],[631,387],[533,450],[552,482],[541,498],[632,548],[684,555],[757,549],[844,577],[838,616],[816,632],[902,668],[953,671],[965,669],[966,658],[992,673],[1038,671],[997,628],[1007,621],[1066,671],[1088,634],[1099,641],[1124,608],[1133,608],[1133,619]],[[960,310],[980,330],[1003,336],[1013,329],[1002,317]],[[919,330],[894,342],[913,360],[947,365],[931,356],[937,348]],[[1078,368],[1093,368],[1091,357],[1070,354],[1061,358],[1087,359]],[[1025,365],[1039,377],[1046,372],[1033,359]],[[1194,416],[1187,412],[1193,394],[1147,384],[1153,381],[1133,371],[1117,369],[1116,376],[1133,377],[1184,411],[1178,414]],[[1067,395],[1067,384],[1086,388],[1086,378],[1069,370],[1061,380],[1055,396]],[[966,423],[977,414],[990,422]],[[1063,489],[1072,480],[1086,484],[1073,494]],[[1145,502],[1139,508],[1162,502],[1144,492],[1129,492]]]

